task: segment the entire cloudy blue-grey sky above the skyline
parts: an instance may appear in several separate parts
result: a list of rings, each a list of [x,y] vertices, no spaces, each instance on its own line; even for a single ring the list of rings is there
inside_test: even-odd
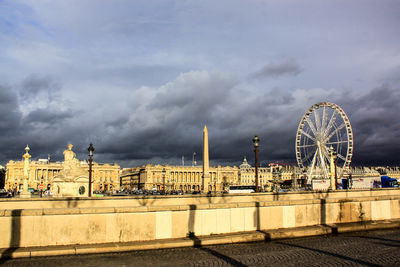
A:
[[[0,164],[296,162],[299,122],[332,102],[352,165],[400,165],[400,2],[0,0]]]

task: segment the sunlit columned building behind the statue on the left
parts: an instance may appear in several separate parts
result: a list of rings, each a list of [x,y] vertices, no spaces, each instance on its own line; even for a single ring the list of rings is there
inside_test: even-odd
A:
[[[80,165],[89,172],[89,164],[80,161]],[[62,170],[61,161],[52,162],[50,159],[29,161],[28,187],[35,190],[40,184],[45,189],[53,190],[53,178]],[[23,186],[24,161],[10,160],[6,165],[6,190],[20,190]],[[93,191],[112,191],[120,188],[120,167],[118,164],[102,164],[93,162],[92,165]]]

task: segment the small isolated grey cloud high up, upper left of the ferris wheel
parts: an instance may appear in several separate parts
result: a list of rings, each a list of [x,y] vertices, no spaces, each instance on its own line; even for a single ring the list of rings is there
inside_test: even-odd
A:
[[[281,76],[296,76],[303,72],[303,68],[293,59],[277,63],[270,63],[254,73],[249,74],[250,79],[279,78]]]

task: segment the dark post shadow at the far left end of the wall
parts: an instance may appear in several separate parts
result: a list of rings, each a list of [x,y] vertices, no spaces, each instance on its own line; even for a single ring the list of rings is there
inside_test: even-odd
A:
[[[0,264],[3,264],[8,259],[11,259],[12,254],[19,248],[21,242],[21,213],[22,210],[12,210],[11,211],[11,238],[10,246],[8,249],[4,250],[1,258]]]

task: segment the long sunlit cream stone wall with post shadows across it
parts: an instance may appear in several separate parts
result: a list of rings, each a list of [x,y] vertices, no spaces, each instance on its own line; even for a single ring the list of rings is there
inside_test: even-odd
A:
[[[29,204],[29,205],[28,205]],[[400,191],[4,200],[0,247],[145,241],[400,218]]]

